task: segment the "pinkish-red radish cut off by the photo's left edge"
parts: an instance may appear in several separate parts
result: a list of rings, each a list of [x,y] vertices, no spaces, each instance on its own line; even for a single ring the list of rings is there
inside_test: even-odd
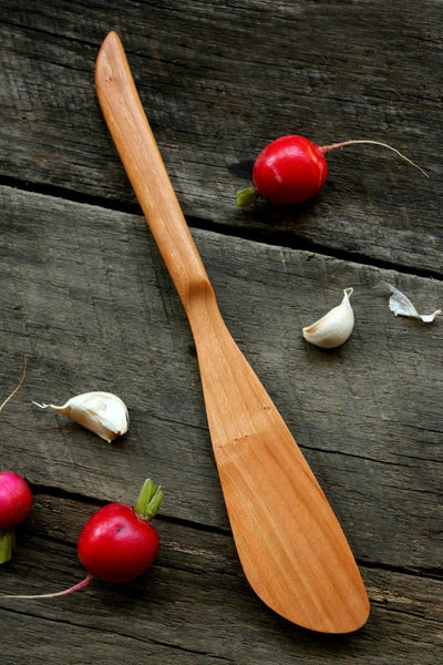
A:
[[[0,563],[12,556],[14,528],[31,512],[32,494],[27,481],[13,471],[0,471]]]

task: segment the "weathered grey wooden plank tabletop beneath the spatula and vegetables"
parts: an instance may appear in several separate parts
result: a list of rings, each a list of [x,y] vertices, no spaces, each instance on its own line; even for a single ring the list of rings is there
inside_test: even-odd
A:
[[[434,664],[441,656],[442,326],[395,317],[443,305],[442,3],[437,0],[0,3],[0,469],[29,481],[0,593],[79,581],[92,512],[165,499],[161,550],[136,582],[0,601],[1,665]],[[103,121],[94,61],[126,49],[225,320],[324,489],[368,587],[350,635],[268,610],[238,563],[194,345]],[[307,204],[236,207],[260,149],[379,140],[328,156]],[[301,328],[354,289],[334,351]],[[109,390],[131,428],[107,444],[31,401]],[[2,401],[3,398],[0,398]]]

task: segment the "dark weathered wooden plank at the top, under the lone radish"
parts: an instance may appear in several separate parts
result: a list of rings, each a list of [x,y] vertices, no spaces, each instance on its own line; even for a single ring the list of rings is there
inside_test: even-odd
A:
[[[110,28],[125,44],[185,213],[275,243],[441,275],[441,3],[96,1],[0,7],[0,174],[134,203],[93,86]],[[330,155],[297,209],[238,211],[271,139],[387,141]],[[11,180],[9,180],[11,182]]]

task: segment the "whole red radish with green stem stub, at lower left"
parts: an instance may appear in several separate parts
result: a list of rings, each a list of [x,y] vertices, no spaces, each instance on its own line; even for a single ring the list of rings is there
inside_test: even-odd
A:
[[[163,499],[163,490],[147,479],[135,508],[110,503],[97,510],[83,526],[79,541],[80,562],[87,570],[84,580],[55,593],[7,595],[12,598],[52,598],[86,586],[94,577],[120,584],[135,580],[154,562],[158,534],[151,520]]]

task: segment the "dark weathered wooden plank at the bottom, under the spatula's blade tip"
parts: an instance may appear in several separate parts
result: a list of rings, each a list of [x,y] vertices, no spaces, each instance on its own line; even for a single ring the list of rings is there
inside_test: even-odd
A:
[[[38,494],[20,551],[3,566],[1,591],[39,592],[81,579],[75,533],[93,507]],[[358,661],[434,665],[441,649],[442,583],[364,570],[372,613],[362,631],[327,636],[268,611],[247,586],[228,534],[158,519],[156,563],[124,586],[94,582],[53,601],[0,601],[2,663],[268,663]],[[23,641],[23,635],[27,640]]]

